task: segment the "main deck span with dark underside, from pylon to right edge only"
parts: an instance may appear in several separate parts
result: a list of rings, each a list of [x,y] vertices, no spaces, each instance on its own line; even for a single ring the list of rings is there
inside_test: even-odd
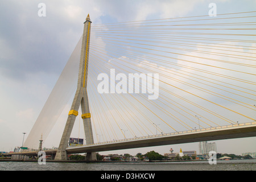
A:
[[[140,148],[151,146],[163,146],[167,144],[192,143],[210,140],[222,140],[233,138],[256,137],[256,123],[249,126],[237,126],[226,129],[215,129],[205,131],[194,131],[191,133],[166,135],[160,137],[126,140],[122,142],[95,144],[91,146],[82,146],[67,148],[67,154],[100,152],[111,150],[122,150],[127,148]]]

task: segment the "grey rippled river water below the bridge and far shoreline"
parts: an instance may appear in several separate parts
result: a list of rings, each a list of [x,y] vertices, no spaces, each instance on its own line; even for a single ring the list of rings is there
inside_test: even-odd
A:
[[[0,171],[256,171],[256,159],[162,163],[0,162]]]

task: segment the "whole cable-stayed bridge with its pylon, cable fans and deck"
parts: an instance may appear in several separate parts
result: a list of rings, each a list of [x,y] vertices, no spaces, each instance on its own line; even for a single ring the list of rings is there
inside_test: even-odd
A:
[[[151,146],[168,144],[176,135],[193,138],[196,130],[193,141],[208,140],[205,133],[215,130],[227,134],[211,133],[212,140],[255,137],[255,17],[253,11],[96,25],[86,20],[24,146],[36,148],[42,134],[47,138],[72,96],[88,101],[65,113],[72,122],[82,118],[90,140],[83,152],[116,149],[120,142],[119,148],[139,147],[154,135]],[[74,96],[77,77],[84,89]],[[80,150],[67,148],[73,125],[64,130],[63,152]],[[229,134],[222,128],[227,125],[239,128]],[[125,144],[128,139],[134,143]]]

